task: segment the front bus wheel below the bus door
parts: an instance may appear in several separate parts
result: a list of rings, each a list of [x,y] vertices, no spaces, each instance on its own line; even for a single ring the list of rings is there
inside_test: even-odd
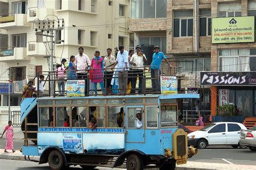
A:
[[[130,154],[126,160],[126,169],[140,170],[143,169],[143,160],[137,154]]]

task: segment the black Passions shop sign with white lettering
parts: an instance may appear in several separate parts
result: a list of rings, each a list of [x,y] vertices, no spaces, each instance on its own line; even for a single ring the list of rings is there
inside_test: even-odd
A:
[[[200,85],[256,86],[256,72],[200,72]]]

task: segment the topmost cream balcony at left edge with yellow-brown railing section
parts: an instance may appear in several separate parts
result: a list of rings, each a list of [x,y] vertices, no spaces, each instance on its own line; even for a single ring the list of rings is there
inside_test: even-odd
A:
[[[28,28],[31,24],[27,22],[24,13],[0,13],[0,29]]]

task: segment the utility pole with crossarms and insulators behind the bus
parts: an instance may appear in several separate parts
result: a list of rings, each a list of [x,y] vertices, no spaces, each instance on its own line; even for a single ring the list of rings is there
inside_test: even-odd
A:
[[[54,66],[53,66],[53,54],[54,54],[54,44],[58,43],[58,42],[64,42],[64,40],[58,40],[55,41],[53,40],[53,38],[55,37],[53,34],[53,31],[57,31],[57,34],[59,33],[59,31],[64,29],[64,19],[59,19],[57,16],[55,16],[56,19],[52,19],[50,20],[49,18],[46,18],[44,20],[39,20],[39,19],[35,19],[35,21],[38,21],[38,28],[35,29],[36,31],[36,35],[42,35],[45,37],[50,37],[50,41],[44,41],[43,43],[45,43],[45,47],[46,47],[46,51],[47,51],[47,43],[50,43],[49,45],[49,56],[46,55],[46,57],[49,57],[50,59],[50,63],[49,63],[49,72],[50,72],[50,87],[49,90],[51,90],[51,96],[54,96],[53,93],[55,93],[55,90],[53,90],[55,87],[54,85],[54,75],[55,75],[55,71],[54,71]],[[34,21],[34,23],[35,23]],[[57,27],[55,27],[55,22],[58,24]],[[60,22],[62,23],[62,25],[60,25]],[[41,25],[42,23],[42,25]],[[49,35],[50,33],[50,35]]]

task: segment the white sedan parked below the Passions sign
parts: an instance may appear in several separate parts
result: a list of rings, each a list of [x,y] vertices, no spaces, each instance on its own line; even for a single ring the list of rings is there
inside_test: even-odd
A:
[[[204,149],[208,145],[231,145],[234,148],[238,146],[245,148],[246,146],[239,144],[241,129],[247,130],[246,127],[240,123],[212,123],[199,131],[188,134],[188,146],[193,145],[200,149]]]

